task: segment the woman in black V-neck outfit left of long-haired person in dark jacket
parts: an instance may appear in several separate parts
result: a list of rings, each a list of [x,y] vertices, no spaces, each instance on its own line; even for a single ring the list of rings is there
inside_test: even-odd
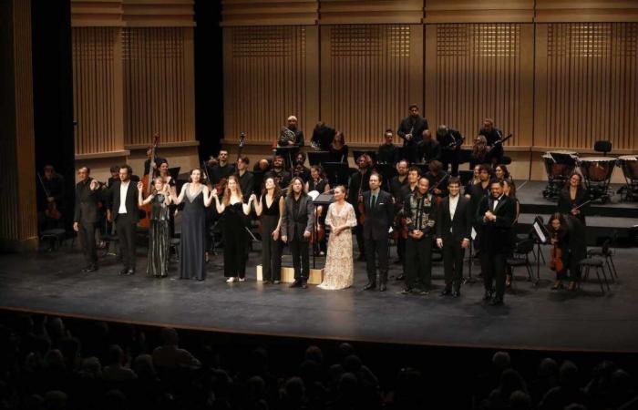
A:
[[[282,274],[281,228],[284,200],[282,189],[273,178],[266,178],[260,200],[255,201],[255,213],[262,217],[262,280],[264,284],[279,284]]]

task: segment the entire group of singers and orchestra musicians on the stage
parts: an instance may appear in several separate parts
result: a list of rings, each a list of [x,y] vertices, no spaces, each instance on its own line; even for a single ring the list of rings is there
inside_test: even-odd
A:
[[[117,241],[119,274],[136,274],[136,238],[143,225],[149,237],[147,275],[169,276],[173,248],[179,258],[179,278],[204,281],[215,243],[222,242],[226,282],[244,282],[255,219],[262,241],[264,284],[282,282],[283,248],[288,246],[294,271],[290,287],[307,287],[313,252],[325,256],[318,287],[349,288],[354,282],[356,242],[358,261],[365,261],[364,291],[386,292],[390,247],[396,246],[394,263],[402,270],[394,280],[403,281],[401,293],[432,291],[432,255],[438,252],[445,277],[440,295],[458,298],[467,279],[463,271],[468,251],[480,261],[483,301],[503,304],[512,280],[507,261],[520,241],[514,229],[520,203],[503,164],[503,142],[509,136],[504,138],[492,119],[485,118],[469,158],[463,159],[465,138],[458,130],[440,125],[430,132],[427,120],[412,105],[396,134],[386,128],[376,151],[357,153],[356,170],[350,175],[343,131],[318,123],[310,152],[320,160],[307,167],[306,153],[301,151],[304,133],[297,124],[297,118],[288,118],[276,138],[273,158],[260,159],[252,171],[241,152],[242,135],[234,163],[222,149],[201,169],[190,170],[179,193],[168,160],[157,155],[157,139],[147,151],[142,178],[129,165],[112,167],[106,183],[92,179],[88,167],[77,169],[73,229],[86,261],[83,272],[98,271],[95,238],[101,231]],[[400,145],[395,144],[396,136]],[[464,162],[469,162],[470,171],[465,171],[468,180],[462,182],[458,169]],[[345,178],[340,179],[343,170]],[[51,166],[40,177],[46,192],[38,214],[41,227],[59,223],[64,197],[60,179]],[[564,286],[574,290],[579,281],[578,264],[586,257],[587,200],[581,175],[573,173],[547,224],[550,243],[561,255],[561,263],[552,265],[556,272],[552,290]],[[58,210],[52,210],[56,202]],[[106,210],[104,226],[102,210]]]

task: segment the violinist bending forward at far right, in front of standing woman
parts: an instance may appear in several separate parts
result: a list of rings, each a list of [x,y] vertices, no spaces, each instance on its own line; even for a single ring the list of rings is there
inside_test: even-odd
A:
[[[562,289],[562,281],[570,281],[569,290],[576,290],[576,282],[581,280],[579,263],[587,257],[585,226],[581,220],[571,214],[556,212],[551,215],[547,226],[551,244],[561,250],[563,269],[556,272],[556,281],[552,291]]]

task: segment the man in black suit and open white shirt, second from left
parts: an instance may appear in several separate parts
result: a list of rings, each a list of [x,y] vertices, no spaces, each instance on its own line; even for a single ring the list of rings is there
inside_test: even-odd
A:
[[[119,180],[115,181],[103,197],[111,203],[111,219],[118,231],[119,249],[122,252],[123,269],[120,275],[135,274],[135,235],[139,222],[138,187],[130,179],[133,170],[129,165],[119,167]]]

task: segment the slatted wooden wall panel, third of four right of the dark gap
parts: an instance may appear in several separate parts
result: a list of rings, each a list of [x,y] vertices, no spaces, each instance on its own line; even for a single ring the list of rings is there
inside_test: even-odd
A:
[[[493,118],[509,145],[530,145],[532,60],[521,53],[530,25],[427,26],[426,117],[430,128],[447,124],[471,144],[482,118]]]

